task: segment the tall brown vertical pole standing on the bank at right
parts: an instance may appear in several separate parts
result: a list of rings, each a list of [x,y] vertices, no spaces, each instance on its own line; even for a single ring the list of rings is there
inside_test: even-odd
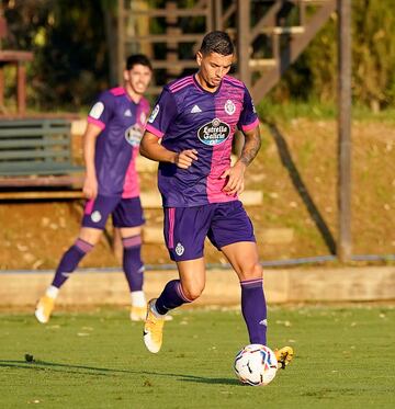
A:
[[[338,0],[338,211],[337,253],[340,261],[351,258],[351,0]]]

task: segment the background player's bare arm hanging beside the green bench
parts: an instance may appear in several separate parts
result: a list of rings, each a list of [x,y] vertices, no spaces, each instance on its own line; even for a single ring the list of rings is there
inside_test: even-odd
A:
[[[98,195],[98,178],[94,166],[95,141],[102,129],[94,124],[88,123],[83,134],[83,159],[86,163],[86,177],[82,192],[87,198],[95,198]]]

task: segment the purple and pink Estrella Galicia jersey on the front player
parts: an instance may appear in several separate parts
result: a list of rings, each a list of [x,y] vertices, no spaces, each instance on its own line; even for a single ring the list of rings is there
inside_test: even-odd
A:
[[[190,207],[237,200],[223,192],[219,179],[230,167],[236,127],[259,125],[246,86],[226,76],[216,92],[205,91],[194,76],[163,88],[146,129],[162,138],[162,146],[180,152],[196,149],[198,161],[189,169],[160,162],[158,185],[165,207]]]

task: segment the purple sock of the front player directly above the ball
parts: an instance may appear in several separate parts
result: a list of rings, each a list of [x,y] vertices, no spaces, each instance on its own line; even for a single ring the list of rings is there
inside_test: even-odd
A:
[[[263,280],[241,281],[241,311],[247,325],[250,343],[267,344],[267,306]]]

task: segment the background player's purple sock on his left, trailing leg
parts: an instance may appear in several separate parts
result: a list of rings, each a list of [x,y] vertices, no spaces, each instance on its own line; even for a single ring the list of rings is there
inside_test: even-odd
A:
[[[52,285],[60,288],[69,275],[77,269],[77,265],[82,258],[92,250],[93,246],[81,239],[77,241],[65,252],[60,260],[58,268],[56,269]]]

